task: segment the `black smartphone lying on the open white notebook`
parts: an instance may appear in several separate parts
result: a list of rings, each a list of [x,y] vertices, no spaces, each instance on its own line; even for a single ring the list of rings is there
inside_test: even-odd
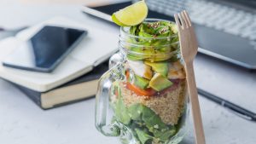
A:
[[[33,72],[52,72],[74,49],[87,31],[44,26],[3,60],[9,66]]]

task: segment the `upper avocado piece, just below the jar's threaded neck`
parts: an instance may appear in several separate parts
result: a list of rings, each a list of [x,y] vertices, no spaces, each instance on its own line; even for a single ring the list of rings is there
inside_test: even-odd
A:
[[[158,72],[161,75],[167,77],[168,74],[168,63],[165,62],[149,62],[145,61],[145,64],[151,66],[154,72]]]

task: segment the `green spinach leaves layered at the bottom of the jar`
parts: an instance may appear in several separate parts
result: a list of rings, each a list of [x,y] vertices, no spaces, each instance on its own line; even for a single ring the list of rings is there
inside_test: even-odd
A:
[[[154,111],[143,104],[125,107],[122,98],[119,98],[115,105],[115,119],[129,127],[141,144],[154,139],[165,142],[177,133],[175,126],[163,123]]]

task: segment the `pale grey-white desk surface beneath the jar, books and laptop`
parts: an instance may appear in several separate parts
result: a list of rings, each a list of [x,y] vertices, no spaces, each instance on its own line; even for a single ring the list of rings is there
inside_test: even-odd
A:
[[[11,0],[12,2],[15,0]],[[114,26],[82,14],[79,6],[19,5],[0,2],[0,26],[32,25],[62,15],[118,34]],[[111,37],[106,37],[111,38]],[[256,112],[256,72],[198,55],[195,75],[199,87]],[[255,144],[256,123],[237,117],[200,97],[207,144]],[[18,89],[0,79],[1,144],[119,144],[94,126],[95,99],[43,111]],[[192,132],[193,130],[191,130]],[[183,144],[194,143],[192,133]]]

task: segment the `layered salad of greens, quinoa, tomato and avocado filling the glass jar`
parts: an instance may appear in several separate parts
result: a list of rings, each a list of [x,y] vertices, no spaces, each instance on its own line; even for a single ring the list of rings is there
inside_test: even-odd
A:
[[[172,141],[186,115],[186,76],[177,26],[154,20],[126,27],[125,80],[112,87],[113,124],[122,124],[137,144]],[[130,143],[131,139],[123,139]]]

